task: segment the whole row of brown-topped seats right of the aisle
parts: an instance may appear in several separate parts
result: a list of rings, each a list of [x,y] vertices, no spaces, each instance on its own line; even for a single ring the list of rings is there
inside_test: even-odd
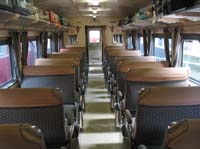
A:
[[[198,101],[196,94],[199,87],[188,87],[187,69],[169,68],[167,62],[156,62],[151,56],[138,56],[137,51],[120,48],[108,48],[105,51],[105,80],[111,93],[111,107],[116,113],[116,126],[122,126],[124,138],[127,138],[124,142],[129,142],[125,143],[129,145],[126,148],[135,148],[139,144],[160,148],[164,131],[170,122],[187,118],[199,119],[199,103],[195,103]],[[153,87],[157,87],[155,90],[158,91],[154,92]],[[145,96],[142,89],[145,89],[147,95],[152,91],[152,96],[156,99],[141,100]],[[177,90],[180,92],[176,93]],[[141,91],[142,95],[139,95]],[[196,101],[193,103],[188,96],[185,103],[181,97],[176,102],[176,97],[179,97],[181,92],[188,92],[189,96],[195,92]],[[168,99],[167,95],[173,100]],[[166,99],[163,99],[165,97]],[[148,103],[145,103],[145,106],[144,101]],[[196,106],[196,113],[191,112],[193,107],[189,102]],[[176,111],[176,108],[165,109],[168,106],[178,106],[179,111]]]

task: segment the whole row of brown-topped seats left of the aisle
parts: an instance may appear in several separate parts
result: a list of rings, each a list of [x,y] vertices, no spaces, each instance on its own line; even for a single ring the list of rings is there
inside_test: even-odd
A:
[[[21,135],[35,140],[36,148],[38,140],[31,135],[41,139],[41,133],[45,148],[77,148],[87,85],[85,53],[85,48],[61,49],[25,66],[21,88],[0,90],[0,123],[25,130]],[[39,129],[31,130],[35,126]]]

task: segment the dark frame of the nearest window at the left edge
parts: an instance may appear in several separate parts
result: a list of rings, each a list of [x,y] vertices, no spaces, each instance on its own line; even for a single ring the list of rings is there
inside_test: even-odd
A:
[[[17,83],[15,62],[13,60],[14,53],[12,52],[12,49],[11,49],[11,41],[9,39],[0,40],[0,45],[5,45],[5,44],[8,45],[8,48],[9,48],[11,79],[3,84],[0,84],[0,89],[10,88],[11,86],[14,86],[14,84]]]

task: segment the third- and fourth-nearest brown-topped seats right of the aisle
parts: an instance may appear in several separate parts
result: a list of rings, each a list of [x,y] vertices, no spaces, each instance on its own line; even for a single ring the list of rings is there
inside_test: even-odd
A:
[[[127,72],[126,72],[127,70]],[[121,71],[121,72],[120,72]],[[129,109],[134,116],[138,100],[138,92],[142,88],[154,86],[187,86],[188,70],[185,68],[169,68],[163,63],[132,63],[130,69],[120,68],[116,89],[115,113],[116,125],[123,123],[124,110]]]

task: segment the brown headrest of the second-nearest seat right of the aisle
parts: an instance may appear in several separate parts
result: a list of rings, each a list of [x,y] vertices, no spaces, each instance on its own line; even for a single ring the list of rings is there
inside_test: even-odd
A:
[[[139,104],[145,106],[199,105],[200,87],[155,87],[139,94]]]

